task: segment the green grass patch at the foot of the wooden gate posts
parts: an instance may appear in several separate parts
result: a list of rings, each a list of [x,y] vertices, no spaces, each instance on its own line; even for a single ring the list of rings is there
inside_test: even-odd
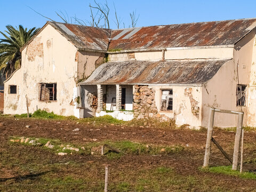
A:
[[[205,169],[202,169],[202,171],[211,172],[211,173],[220,173],[220,174],[226,174],[226,175],[232,175],[239,177],[241,179],[256,179],[256,174],[253,172],[242,172],[239,171],[233,171],[231,166],[215,166],[215,167],[208,167]]]

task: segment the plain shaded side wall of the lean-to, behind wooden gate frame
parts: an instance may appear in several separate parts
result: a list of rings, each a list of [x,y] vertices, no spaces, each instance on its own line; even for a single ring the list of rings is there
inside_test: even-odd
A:
[[[236,68],[230,60],[203,86],[202,126],[208,126],[210,107],[237,110],[236,85]],[[236,115],[215,113],[214,126],[234,127],[236,124]]]

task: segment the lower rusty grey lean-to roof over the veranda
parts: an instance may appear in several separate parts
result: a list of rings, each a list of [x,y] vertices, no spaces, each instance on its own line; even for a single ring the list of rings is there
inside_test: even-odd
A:
[[[201,84],[227,60],[103,63],[80,84]]]

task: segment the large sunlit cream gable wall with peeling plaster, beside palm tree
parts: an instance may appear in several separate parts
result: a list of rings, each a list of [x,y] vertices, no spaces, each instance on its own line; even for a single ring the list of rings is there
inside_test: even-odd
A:
[[[17,94],[5,91],[4,114],[26,113],[26,95],[29,112],[37,108],[59,115],[75,115],[77,98],[76,47],[50,25],[22,51],[21,68],[5,82],[17,85]],[[39,101],[39,83],[57,83],[57,101]]]

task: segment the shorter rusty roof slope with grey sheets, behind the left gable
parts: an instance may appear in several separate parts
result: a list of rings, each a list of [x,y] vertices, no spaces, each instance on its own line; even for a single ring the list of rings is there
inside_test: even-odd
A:
[[[110,29],[48,21],[77,48],[107,51]]]

